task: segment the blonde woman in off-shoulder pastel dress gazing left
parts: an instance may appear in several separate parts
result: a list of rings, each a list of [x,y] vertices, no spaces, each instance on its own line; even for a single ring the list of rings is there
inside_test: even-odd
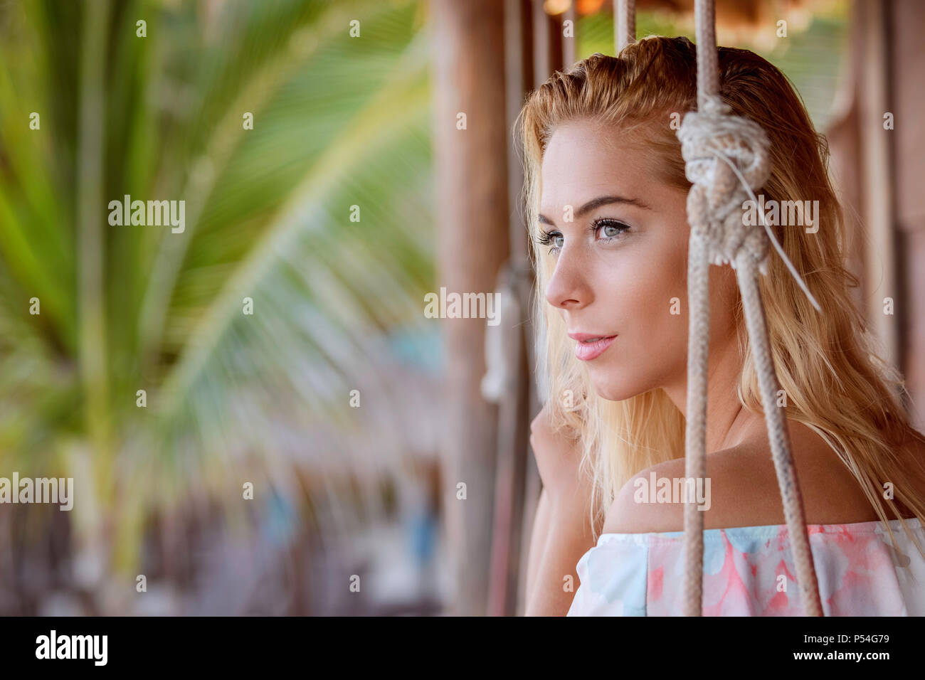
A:
[[[777,68],[746,50],[719,61],[722,99],[771,140],[763,209],[810,206],[773,230],[822,311],[773,251],[760,286],[823,611],[925,614],[925,438],[852,304],[825,139]],[[683,612],[684,505],[666,489],[685,475],[690,183],[676,132],[696,82],[694,45],[651,37],[554,74],[517,121],[549,391],[531,438],[544,489],[527,614]],[[709,306],[703,612],[801,615],[730,266],[710,267]]]

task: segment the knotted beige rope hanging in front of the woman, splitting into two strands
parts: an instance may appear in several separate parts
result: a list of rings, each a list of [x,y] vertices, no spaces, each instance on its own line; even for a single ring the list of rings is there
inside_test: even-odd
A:
[[[707,365],[709,358],[709,265],[731,264],[736,272],[746,328],[752,343],[759,378],[761,404],[768,426],[771,456],[781,489],[783,513],[794,553],[796,579],[804,611],[822,615],[819,587],[803,501],[790,452],[783,411],[776,405],[780,385],[774,373],[758,274],[767,274],[768,244],[773,242],[791,274],[813,305],[819,303],[783,255],[770,227],[760,214],[762,229],[746,226],[741,205],[755,199],[771,173],[769,142],[754,121],[732,115],[719,96],[713,0],[696,0],[697,111],[688,112],[678,130],[685,158],[685,173],[692,182],[687,196],[687,220],[691,226],[687,267],[690,326],[687,355],[687,421],[685,476],[706,476]],[[722,162],[721,162],[722,161]],[[703,513],[693,501],[685,502],[685,615],[703,611]]]

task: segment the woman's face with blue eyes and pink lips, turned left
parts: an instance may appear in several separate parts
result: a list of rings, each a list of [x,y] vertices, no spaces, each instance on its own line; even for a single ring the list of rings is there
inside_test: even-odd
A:
[[[687,192],[657,179],[658,162],[586,120],[557,128],[543,158],[546,299],[604,399],[686,384]],[[711,266],[711,355],[734,342],[735,299],[733,270]]]

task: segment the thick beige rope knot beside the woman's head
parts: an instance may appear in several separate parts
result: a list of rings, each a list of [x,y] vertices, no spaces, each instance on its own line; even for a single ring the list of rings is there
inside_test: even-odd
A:
[[[758,189],[771,175],[767,134],[755,121],[732,115],[720,97],[709,96],[698,111],[685,114],[678,139],[685,175],[694,185],[687,219],[706,239],[710,263],[735,267],[747,255],[767,274],[768,235],[761,225],[747,226],[742,212],[749,188]]]

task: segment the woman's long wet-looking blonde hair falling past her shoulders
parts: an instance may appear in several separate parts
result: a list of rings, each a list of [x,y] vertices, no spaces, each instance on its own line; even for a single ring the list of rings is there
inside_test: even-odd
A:
[[[759,277],[786,416],[811,427],[832,447],[884,523],[887,508],[902,519],[897,503],[881,500],[883,485],[892,482],[895,500],[925,525],[925,502],[910,483],[922,474],[921,462],[918,470],[908,469],[894,451],[909,437],[925,438],[910,427],[898,396],[905,390],[902,377],[878,356],[849,294],[858,281],[845,268],[845,223],[828,177],[825,137],[813,128],[790,82],[768,61],[721,47],[719,63],[722,99],[736,115],[758,122],[771,140],[771,178],[761,192],[776,201],[806,195],[819,200],[818,232],[778,226],[775,236],[824,314],[815,311],[775,253],[768,275]],[[557,71],[531,93],[514,127],[524,154],[524,199],[536,265],[537,370],[549,393],[554,427],[572,428],[583,442],[582,466],[593,477],[595,527],[632,476],[684,456],[685,418],[662,389],[609,402],[591,387],[561,315],[544,297],[555,265],[536,249],[540,165],[557,126],[585,118],[633,134],[660,159],[662,179],[688,189],[676,126],[669,123],[696,108],[696,85],[694,45],[686,38],[649,37],[628,45],[620,56],[595,54],[566,73]],[[762,414],[741,298],[734,315],[744,359],[738,396],[746,409]],[[911,537],[906,522],[902,525]]]

